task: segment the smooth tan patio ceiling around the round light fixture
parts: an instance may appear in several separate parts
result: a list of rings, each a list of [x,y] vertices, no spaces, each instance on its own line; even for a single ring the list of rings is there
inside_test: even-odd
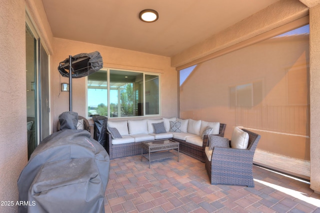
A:
[[[54,37],[173,56],[278,0],[42,0]],[[139,19],[142,9],[159,19]]]

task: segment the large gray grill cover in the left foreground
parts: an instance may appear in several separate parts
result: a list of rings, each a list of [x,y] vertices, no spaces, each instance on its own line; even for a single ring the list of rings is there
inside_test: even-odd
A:
[[[47,136],[18,178],[18,212],[104,212],[109,155],[86,130]],[[28,201],[28,202],[27,202]]]

